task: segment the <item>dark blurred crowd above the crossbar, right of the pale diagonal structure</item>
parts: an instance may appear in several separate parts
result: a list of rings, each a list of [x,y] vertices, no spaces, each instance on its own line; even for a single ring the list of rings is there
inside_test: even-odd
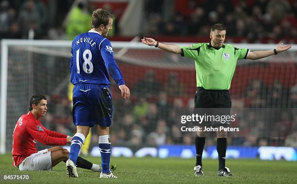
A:
[[[155,0],[155,4],[160,1]],[[297,36],[297,3],[294,0],[177,0],[177,11],[167,19],[151,4],[148,34],[208,36],[210,27],[221,22],[228,37],[279,39]],[[182,6],[184,3],[187,7]],[[181,6],[180,6],[181,5]],[[155,13],[151,13],[155,12]]]

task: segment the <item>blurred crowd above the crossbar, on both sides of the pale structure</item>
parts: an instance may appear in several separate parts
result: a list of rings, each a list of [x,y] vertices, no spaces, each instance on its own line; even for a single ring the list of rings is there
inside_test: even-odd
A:
[[[35,39],[70,39],[71,31],[63,21],[72,2],[1,0],[1,38],[28,38],[28,31],[33,30]],[[145,1],[148,20],[144,22],[148,24],[144,24],[143,34],[203,37],[209,35],[211,25],[220,22],[227,26],[229,37],[242,37],[253,42],[262,38],[297,37],[295,0],[214,0],[212,3],[207,0],[175,0],[171,4],[174,7],[170,9],[165,0]],[[72,15],[83,21],[90,17],[94,8],[80,3]],[[110,8],[110,5],[106,3],[104,8]],[[164,15],[164,12],[169,13]],[[71,19],[72,15],[69,14],[68,18]],[[80,24],[83,24],[80,29],[89,29],[89,26],[84,27],[88,23]],[[114,35],[121,34],[117,27],[115,30]]]

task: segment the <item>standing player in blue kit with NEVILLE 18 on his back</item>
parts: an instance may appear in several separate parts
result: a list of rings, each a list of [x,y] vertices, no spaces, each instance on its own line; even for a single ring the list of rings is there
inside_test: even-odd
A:
[[[103,9],[97,9],[92,14],[92,29],[77,35],[72,41],[70,81],[74,84],[72,114],[77,132],[72,138],[69,159],[66,162],[69,177],[78,177],[75,166],[78,154],[90,127],[96,125],[102,166],[100,178],[116,178],[109,169],[109,126],[113,113],[109,74],[115,80],[124,99],[129,99],[130,90],[125,85],[123,75],[115,62],[112,45],[106,38],[112,24],[113,15]]]

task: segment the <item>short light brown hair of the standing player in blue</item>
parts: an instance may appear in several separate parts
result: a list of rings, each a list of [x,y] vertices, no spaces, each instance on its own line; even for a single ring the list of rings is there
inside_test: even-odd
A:
[[[92,13],[91,27],[98,28],[101,24],[107,26],[111,18],[113,19],[114,16],[102,8],[94,10]]]

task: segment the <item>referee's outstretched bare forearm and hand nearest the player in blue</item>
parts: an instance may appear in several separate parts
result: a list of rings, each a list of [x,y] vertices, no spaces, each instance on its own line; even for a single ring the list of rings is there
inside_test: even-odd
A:
[[[180,54],[182,52],[181,48],[179,46],[176,46],[174,44],[163,44],[161,42],[156,41],[153,38],[144,37],[143,39],[141,39],[141,42],[148,46],[155,46],[155,47],[158,47],[164,51],[172,52],[175,54]]]

